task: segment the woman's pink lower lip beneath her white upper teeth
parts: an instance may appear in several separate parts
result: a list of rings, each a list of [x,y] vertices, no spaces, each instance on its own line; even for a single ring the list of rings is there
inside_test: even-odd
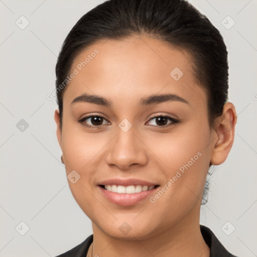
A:
[[[103,195],[109,201],[121,206],[130,206],[130,205],[139,203],[143,199],[150,197],[156,191],[156,189],[159,188],[158,186],[148,191],[142,191],[140,193],[134,193],[134,194],[126,194],[126,193],[114,193],[102,188],[101,186],[98,186],[98,187],[102,191]]]

